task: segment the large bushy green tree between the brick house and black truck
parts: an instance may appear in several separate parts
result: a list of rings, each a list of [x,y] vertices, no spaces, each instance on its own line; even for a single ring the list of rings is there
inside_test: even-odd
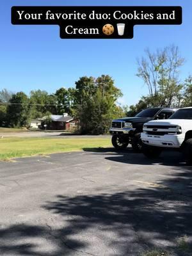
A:
[[[115,87],[113,79],[109,76],[101,76],[97,79],[86,77],[80,81],[88,81],[82,86],[83,104],[76,107],[76,116],[80,120],[81,133],[104,134],[108,131],[113,118],[123,116],[123,110],[116,106],[116,100],[122,93]],[[93,81],[94,84],[93,84]],[[77,82],[77,84],[79,84]],[[90,90],[88,90],[90,86]],[[84,90],[86,88],[86,90]],[[80,96],[80,95],[79,95]],[[79,97],[79,99],[81,99]]]

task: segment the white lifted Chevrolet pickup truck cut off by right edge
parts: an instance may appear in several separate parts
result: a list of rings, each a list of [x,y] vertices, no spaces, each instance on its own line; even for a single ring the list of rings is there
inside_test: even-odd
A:
[[[145,123],[141,140],[148,158],[158,157],[163,148],[177,148],[192,164],[192,107],[179,109],[169,119]]]

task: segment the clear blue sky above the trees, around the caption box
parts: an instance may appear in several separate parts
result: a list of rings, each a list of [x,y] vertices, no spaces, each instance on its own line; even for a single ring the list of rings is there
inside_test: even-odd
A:
[[[181,26],[136,26],[131,40],[65,40],[58,26],[13,26],[10,9],[17,5],[178,5],[183,8]],[[167,45],[179,46],[186,58],[180,79],[192,74],[192,3],[189,0],[1,0],[0,90],[13,92],[74,86],[81,76],[109,74],[124,93],[120,101],[131,105],[147,95],[136,77],[136,58]]]

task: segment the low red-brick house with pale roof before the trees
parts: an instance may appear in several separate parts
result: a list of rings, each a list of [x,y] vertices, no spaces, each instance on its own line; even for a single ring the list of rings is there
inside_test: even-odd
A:
[[[45,120],[47,116],[43,119]],[[72,130],[77,126],[77,120],[72,116],[69,116],[67,113],[63,115],[51,115],[51,122],[47,124],[47,130]]]

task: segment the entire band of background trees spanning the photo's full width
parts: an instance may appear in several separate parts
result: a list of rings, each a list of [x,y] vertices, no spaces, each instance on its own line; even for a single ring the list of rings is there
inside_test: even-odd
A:
[[[42,90],[32,90],[29,95],[1,90],[0,126],[28,127],[32,119],[68,113],[79,119],[81,133],[103,134],[113,118],[134,116],[151,107],[192,106],[192,77],[180,79],[184,61],[175,45],[153,53],[147,49],[138,60],[136,75],[147,86],[148,95],[129,107],[117,103],[122,92],[108,75],[80,77],[73,88],[60,88],[51,94]]]

